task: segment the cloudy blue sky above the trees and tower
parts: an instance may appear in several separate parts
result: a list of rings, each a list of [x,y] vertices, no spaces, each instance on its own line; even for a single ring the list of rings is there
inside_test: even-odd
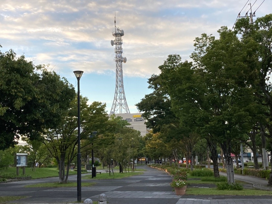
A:
[[[263,3],[262,3],[263,2]],[[115,57],[111,40],[116,27],[122,37],[123,81],[131,113],[146,94],[147,79],[170,54],[190,59],[194,39],[213,34],[221,26],[232,28],[238,13],[271,13],[271,0],[1,0],[2,52],[14,50],[35,65],[65,77],[77,90],[75,70],[84,71],[80,94],[89,103],[106,103],[109,113],[115,94]],[[259,7],[259,8],[258,8]]]

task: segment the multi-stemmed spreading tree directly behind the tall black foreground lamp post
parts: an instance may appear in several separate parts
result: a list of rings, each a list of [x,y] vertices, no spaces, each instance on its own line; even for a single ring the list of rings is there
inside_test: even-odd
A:
[[[105,104],[93,102],[87,105],[87,102],[86,97],[80,97],[80,118],[82,120],[80,138],[91,144],[92,140],[89,136],[94,131],[97,131],[98,134],[104,131],[108,116],[105,112]],[[70,103],[67,115],[61,120],[61,125],[48,130],[44,135],[44,144],[57,160],[60,170],[59,183],[67,183],[70,163],[77,155],[77,127],[77,99],[74,99]],[[88,145],[88,143],[84,144]]]

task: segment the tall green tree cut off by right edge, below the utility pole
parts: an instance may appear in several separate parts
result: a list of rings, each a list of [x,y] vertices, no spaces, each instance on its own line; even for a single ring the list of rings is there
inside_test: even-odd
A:
[[[248,86],[255,89],[254,94],[259,100],[256,103],[263,105],[267,111],[263,112],[266,120],[262,121],[269,134],[268,141],[272,141],[272,84],[270,74],[272,72],[272,14],[257,18],[254,24],[250,24],[247,19],[239,19],[235,25],[235,33],[241,35],[241,42],[247,48],[247,70],[244,72]],[[251,54],[253,53],[253,54]],[[263,141],[263,143],[265,143]],[[263,147],[265,144],[263,145]],[[272,144],[270,143],[272,147]],[[265,149],[263,148],[263,154]],[[272,164],[272,160],[270,160]],[[268,180],[268,185],[272,186],[272,170]]]

